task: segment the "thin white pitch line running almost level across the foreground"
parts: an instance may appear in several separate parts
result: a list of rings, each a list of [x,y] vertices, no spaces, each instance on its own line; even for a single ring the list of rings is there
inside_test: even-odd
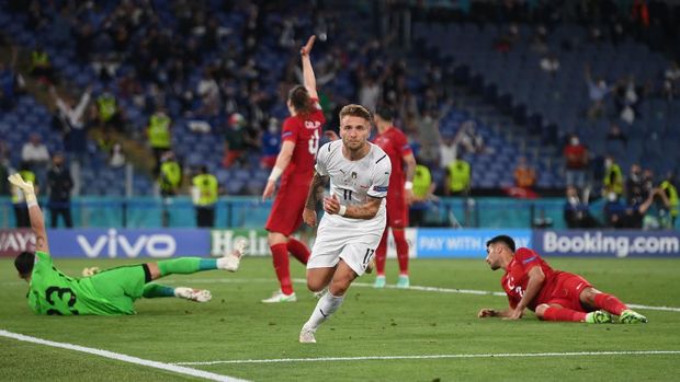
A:
[[[590,357],[590,356],[657,356],[680,355],[680,350],[632,350],[632,351],[569,351],[569,352],[500,352],[486,355],[431,355],[431,356],[366,356],[366,357],[321,357],[321,358],[274,358],[235,359],[228,361],[174,362],[173,364],[209,366],[220,363],[283,363],[283,362],[326,362],[326,361],[372,361],[393,359],[451,359],[451,358],[522,358],[522,357]]]

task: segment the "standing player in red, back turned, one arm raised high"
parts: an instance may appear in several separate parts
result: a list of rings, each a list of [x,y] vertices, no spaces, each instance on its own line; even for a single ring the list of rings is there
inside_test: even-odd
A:
[[[271,298],[262,300],[265,303],[297,300],[291,282],[288,252],[302,264],[307,264],[309,258],[309,248],[291,238],[291,234],[303,222],[303,209],[314,175],[319,137],[326,123],[309,59],[315,39],[316,36],[309,37],[301,49],[304,85],[297,85],[288,93],[286,104],[291,116],[283,123],[281,151],[262,193],[262,200],[271,197],[276,188],[276,181],[281,177],[279,193],[264,225],[269,231],[269,247],[281,289]]]

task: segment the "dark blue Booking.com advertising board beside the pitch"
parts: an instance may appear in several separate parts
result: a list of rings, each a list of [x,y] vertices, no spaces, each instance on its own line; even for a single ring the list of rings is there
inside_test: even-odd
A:
[[[534,250],[545,256],[678,257],[678,231],[534,231]]]

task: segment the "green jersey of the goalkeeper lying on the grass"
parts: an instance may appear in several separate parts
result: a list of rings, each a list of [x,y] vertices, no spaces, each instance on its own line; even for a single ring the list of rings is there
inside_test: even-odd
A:
[[[132,301],[116,303],[99,292],[90,277],[75,278],[64,275],[52,264],[45,252],[35,253],[31,275],[29,305],[37,314],[47,315],[114,315],[134,314]]]

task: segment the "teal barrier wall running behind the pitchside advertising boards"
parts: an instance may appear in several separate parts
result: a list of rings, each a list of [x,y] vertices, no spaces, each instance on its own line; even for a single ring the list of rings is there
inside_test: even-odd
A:
[[[45,206],[45,201],[43,197],[42,206]],[[566,228],[564,202],[564,198],[440,198],[419,206],[424,209],[424,219],[419,225],[495,229],[543,227],[558,230]],[[223,196],[215,206],[215,227],[261,228],[271,207],[272,201],[262,201],[261,197]],[[73,198],[71,212],[77,228],[196,228],[194,206],[188,196],[169,199],[152,196],[81,196]],[[591,212],[602,220],[602,200],[591,206]],[[49,208],[44,208],[44,213],[49,222]],[[59,221],[59,224],[64,222]],[[13,205],[9,197],[0,197],[0,229],[13,227]]]

